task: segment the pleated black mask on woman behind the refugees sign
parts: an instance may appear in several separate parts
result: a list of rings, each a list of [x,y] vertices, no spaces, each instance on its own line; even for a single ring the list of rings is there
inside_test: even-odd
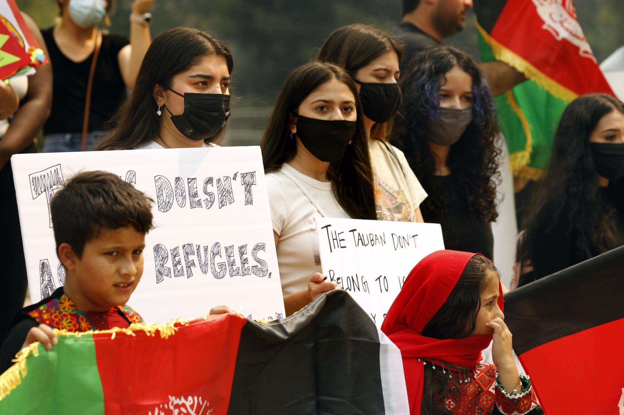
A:
[[[173,115],[166,105],[163,105],[171,115],[175,128],[186,138],[193,141],[208,140],[221,131],[230,118],[230,95],[225,93],[191,93],[184,95],[184,112]]]

